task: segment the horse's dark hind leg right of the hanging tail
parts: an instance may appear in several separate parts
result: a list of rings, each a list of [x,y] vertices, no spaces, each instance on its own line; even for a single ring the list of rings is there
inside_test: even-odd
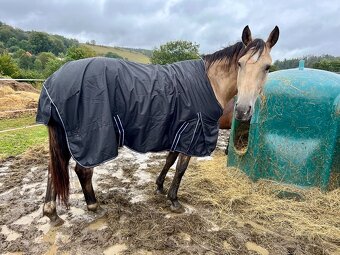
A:
[[[83,190],[87,209],[90,211],[96,211],[98,209],[98,203],[92,186],[93,168],[85,168],[77,163],[74,170]]]

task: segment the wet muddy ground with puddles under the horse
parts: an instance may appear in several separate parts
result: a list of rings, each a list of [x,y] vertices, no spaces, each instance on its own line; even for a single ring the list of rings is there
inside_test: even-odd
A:
[[[49,219],[42,216],[46,149],[38,148],[0,163],[0,253],[340,254],[340,240],[335,236],[299,233],[296,237],[292,232],[298,231],[288,224],[289,219],[276,222],[269,229],[266,222],[271,219],[261,213],[256,216],[258,221],[242,214],[244,208],[251,206],[248,200],[234,195],[214,204],[211,201],[220,190],[212,180],[196,176],[201,180],[190,181],[195,171],[204,176],[204,171],[214,170],[203,169],[208,166],[224,171],[226,137],[222,132],[212,157],[190,162],[179,191],[185,205],[182,214],[172,213],[166,198],[154,194],[155,179],[166,153],[137,154],[123,148],[117,159],[97,167],[94,188],[103,209],[98,213],[86,210],[80,185],[71,171],[71,207],[66,210],[58,206],[58,213],[65,220],[59,227],[52,227]],[[174,168],[166,179],[166,187],[173,173]],[[196,192],[202,189],[206,190],[206,197]],[[230,210],[222,219],[223,201]],[[330,232],[339,231],[340,221],[337,222]]]

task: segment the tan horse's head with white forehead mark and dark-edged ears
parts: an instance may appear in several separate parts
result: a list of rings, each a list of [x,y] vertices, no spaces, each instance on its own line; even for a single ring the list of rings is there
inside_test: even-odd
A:
[[[253,40],[248,26],[243,29],[242,42],[245,45],[238,58],[237,102],[235,118],[247,121],[254,112],[254,105],[266,82],[272,58],[270,51],[279,39],[276,26],[266,42]]]

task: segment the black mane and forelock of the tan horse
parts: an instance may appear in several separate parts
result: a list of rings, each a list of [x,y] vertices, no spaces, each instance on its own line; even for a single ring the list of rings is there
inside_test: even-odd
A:
[[[206,63],[206,68],[218,61],[224,61],[229,69],[233,64],[236,64],[238,60],[243,57],[250,49],[253,51],[251,56],[259,52],[260,56],[264,51],[266,43],[262,39],[255,39],[245,47],[243,42],[237,42],[234,45],[230,45],[222,50],[216,51],[212,54],[203,56]]]

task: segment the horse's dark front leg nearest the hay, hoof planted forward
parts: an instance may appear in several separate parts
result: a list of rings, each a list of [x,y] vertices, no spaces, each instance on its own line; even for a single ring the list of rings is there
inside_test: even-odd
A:
[[[171,210],[175,212],[182,211],[182,205],[178,202],[177,192],[179,189],[179,185],[181,184],[182,177],[185,173],[185,170],[188,167],[190,156],[180,154],[179,159],[176,166],[176,173],[174,179],[172,180],[169,192],[168,199],[171,201]]]

